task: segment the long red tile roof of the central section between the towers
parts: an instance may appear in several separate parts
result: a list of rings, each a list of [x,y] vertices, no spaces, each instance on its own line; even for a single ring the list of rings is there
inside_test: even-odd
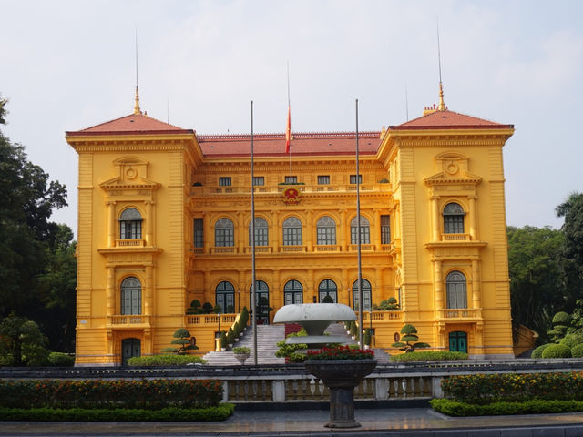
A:
[[[292,133],[293,156],[353,155],[356,151],[354,132]],[[251,155],[250,135],[200,135],[202,154],[208,158],[235,158]],[[380,132],[359,132],[359,153],[374,155],[380,144]],[[279,157],[285,153],[285,134],[253,136],[253,155]]]

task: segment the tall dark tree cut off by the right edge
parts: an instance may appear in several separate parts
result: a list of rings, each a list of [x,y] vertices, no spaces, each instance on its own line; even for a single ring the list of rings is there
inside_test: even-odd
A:
[[[563,310],[575,310],[576,301],[583,290],[583,194],[571,193],[555,209],[557,217],[564,217],[561,227],[565,239],[559,252],[563,274]]]

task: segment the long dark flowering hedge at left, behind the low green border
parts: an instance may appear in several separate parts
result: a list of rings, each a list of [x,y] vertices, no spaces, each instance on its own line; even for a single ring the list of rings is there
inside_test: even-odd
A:
[[[0,407],[200,408],[222,399],[220,381],[198,380],[0,380]]]

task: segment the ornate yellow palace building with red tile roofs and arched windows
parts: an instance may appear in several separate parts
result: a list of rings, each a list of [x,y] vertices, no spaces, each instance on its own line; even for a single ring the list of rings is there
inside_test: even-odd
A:
[[[260,323],[289,303],[358,308],[390,350],[412,323],[435,351],[513,356],[502,148],[512,125],[448,110],[380,132],[254,136]],[[77,365],[157,354],[178,328],[215,349],[250,308],[251,137],[133,114],[66,132],[77,151]],[[401,310],[371,307],[394,298]],[[222,314],[189,315],[192,301]],[[270,307],[272,310],[270,311]],[[374,307],[376,308],[376,307]],[[372,318],[372,320],[371,320]]]

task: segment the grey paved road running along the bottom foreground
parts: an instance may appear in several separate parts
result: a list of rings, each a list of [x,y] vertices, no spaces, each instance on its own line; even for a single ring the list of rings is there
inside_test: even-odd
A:
[[[583,413],[450,418],[427,408],[359,409],[362,428],[323,427],[327,411],[235,412],[225,422],[0,422],[0,436],[579,437]]]

